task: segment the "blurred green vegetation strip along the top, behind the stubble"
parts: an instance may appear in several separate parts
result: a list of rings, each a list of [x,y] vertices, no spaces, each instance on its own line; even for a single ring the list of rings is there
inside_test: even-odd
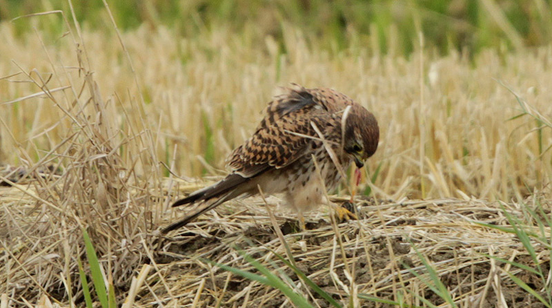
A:
[[[37,5],[38,4],[38,5]],[[300,28],[313,41],[342,50],[371,46],[374,52],[410,55],[425,45],[441,54],[450,50],[478,52],[485,47],[511,50],[552,41],[552,8],[545,0],[440,1],[108,1],[122,30],[165,26],[181,37],[196,37],[217,28],[242,32],[255,28],[262,42],[274,37],[286,52],[284,26]],[[87,28],[110,23],[102,1],[73,1],[77,21]],[[69,12],[68,1],[0,0],[0,21],[49,10]],[[61,22],[48,19],[61,30]],[[28,30],[17,22],[19,31]],[[53,29],[52,28],[52,29]]]

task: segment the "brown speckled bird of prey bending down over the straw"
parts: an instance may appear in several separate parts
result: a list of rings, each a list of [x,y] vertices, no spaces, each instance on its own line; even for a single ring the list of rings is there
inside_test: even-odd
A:
[[[283,88],[264,110],[253,135],[228,156],[224,179],[190,193],[172,204],[199,204],[163,233],[184,227],[199,215],[239,196],[282,193],[284,202],[303,213],[329,204],[323,189],[335,189],[343,173],[357,169],[379,143],[380,128],[373,113],[331,88]]]

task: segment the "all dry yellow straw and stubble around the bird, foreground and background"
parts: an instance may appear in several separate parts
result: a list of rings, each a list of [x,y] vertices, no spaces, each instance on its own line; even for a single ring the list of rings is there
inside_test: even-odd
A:
[[[172,240],[154,235],[175,214],[166,209],[167,196],[195,187],[164,178],[158,162],[187,177],[220,174],[213,166],[223,165],[257,125],[275,86],[288,81],[337,88],[373,110],[382,140],[367,169],[381,162],[375,195],[395,200],[364,206],[362,220],[339,227],[311,213],[307,219],[317,223],[306,233],[290,232],[279,215],[279,225],[291,229],[284,238],[293,256],[313,280],[343,300],[356,292],[422,305],[417,294],[439,305],[403,265],[421,264],[412,242],[460,307],[531,301],[504,270],[537,284],[533,276],[483,254],[529,264],[520,241],[471,221],[507,225],[489,200],[524,200],[546,189],[551,154],[542,152],[551,133],[535,130],[541,124],[534,119],[506,121],[519,111],[495,79],[549,115],[551,47],[482,52],[473,61],[456,53],[432,57],[431,50],[404,59],[354,44],[345,52],[322,50],[287,28],[282,55],[254,29],[239,37],[205,30],[190,41],[140,28],[121,34],[129,61],[114,33],[77,35],[71,27],[61,38],[46,39],[39,30],[17,38],[9,23],[0,24],[0,54],[12,59],[0,62],[0,162],[24,166],[29,175],[0,188],[1,307],[34,305],[41,296],[63,307],[83,305],[81,227],[121,301],[285,307],[278,291],[199,259],[249,269],[236,245],[267,267],[282,267],[266,250],[284,254],[284,245],[260,200],[223,206],[226,215],[203,216]],[[2,173],[0,180],[11,178]],[[531,200],[550,209],[546,196]],[[519,217],[522,208],[506,205]],[[545,245],[534,244],[539,262],[549,262]],[[132,289],[130,277],[146,263],[149,273]],[[297,281],[289,283],[310,297]]]

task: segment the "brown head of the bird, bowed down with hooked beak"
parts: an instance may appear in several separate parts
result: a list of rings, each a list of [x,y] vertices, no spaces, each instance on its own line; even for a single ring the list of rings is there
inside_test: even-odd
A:
[[[353,104],[344,112],[343,149],[355,160],[358,168],[364,166],[364,160],[371,157],[380,141],[380,128],[372,113],[364,107]]]

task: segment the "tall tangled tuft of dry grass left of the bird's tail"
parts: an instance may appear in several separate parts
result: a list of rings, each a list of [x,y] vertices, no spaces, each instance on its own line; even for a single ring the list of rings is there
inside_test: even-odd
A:
[[[85,260],[83,228],[106,265],[106,281],[128,288],[130,276],[147,259],[151,240],[146,232],[155,229],[152,210],[161,204],[145,114],[130,118],[119,114],[118,97],[104,100],[81,37],[70,32],[66,39],[72,39],[76,59],[54,61],[45,47],[50,72],[14,62],[19,72],[6,80],[21,78],[37,91],[16,100],[42,101],[34,107],[36,113],[21,114],[23,125],[34,117],[31,129],[16,124],[18,102],[4,103],[2,108],[11,113],[0,118],[2,141],[12,144],[3,149],[23,165],[16,170],[17,184],[13,172],[0,175],[10,185],[0,193],[0,285],[6,286],[2,292],[9,294],[10,305],[37,302],[44,295],[54,301],[82,301],[77,259]],[[128,103],[143,108],[135,98]],[[45,115],[50,117],[46,121]],[[19,143],[21,133],[28,136],[26,145]]]

